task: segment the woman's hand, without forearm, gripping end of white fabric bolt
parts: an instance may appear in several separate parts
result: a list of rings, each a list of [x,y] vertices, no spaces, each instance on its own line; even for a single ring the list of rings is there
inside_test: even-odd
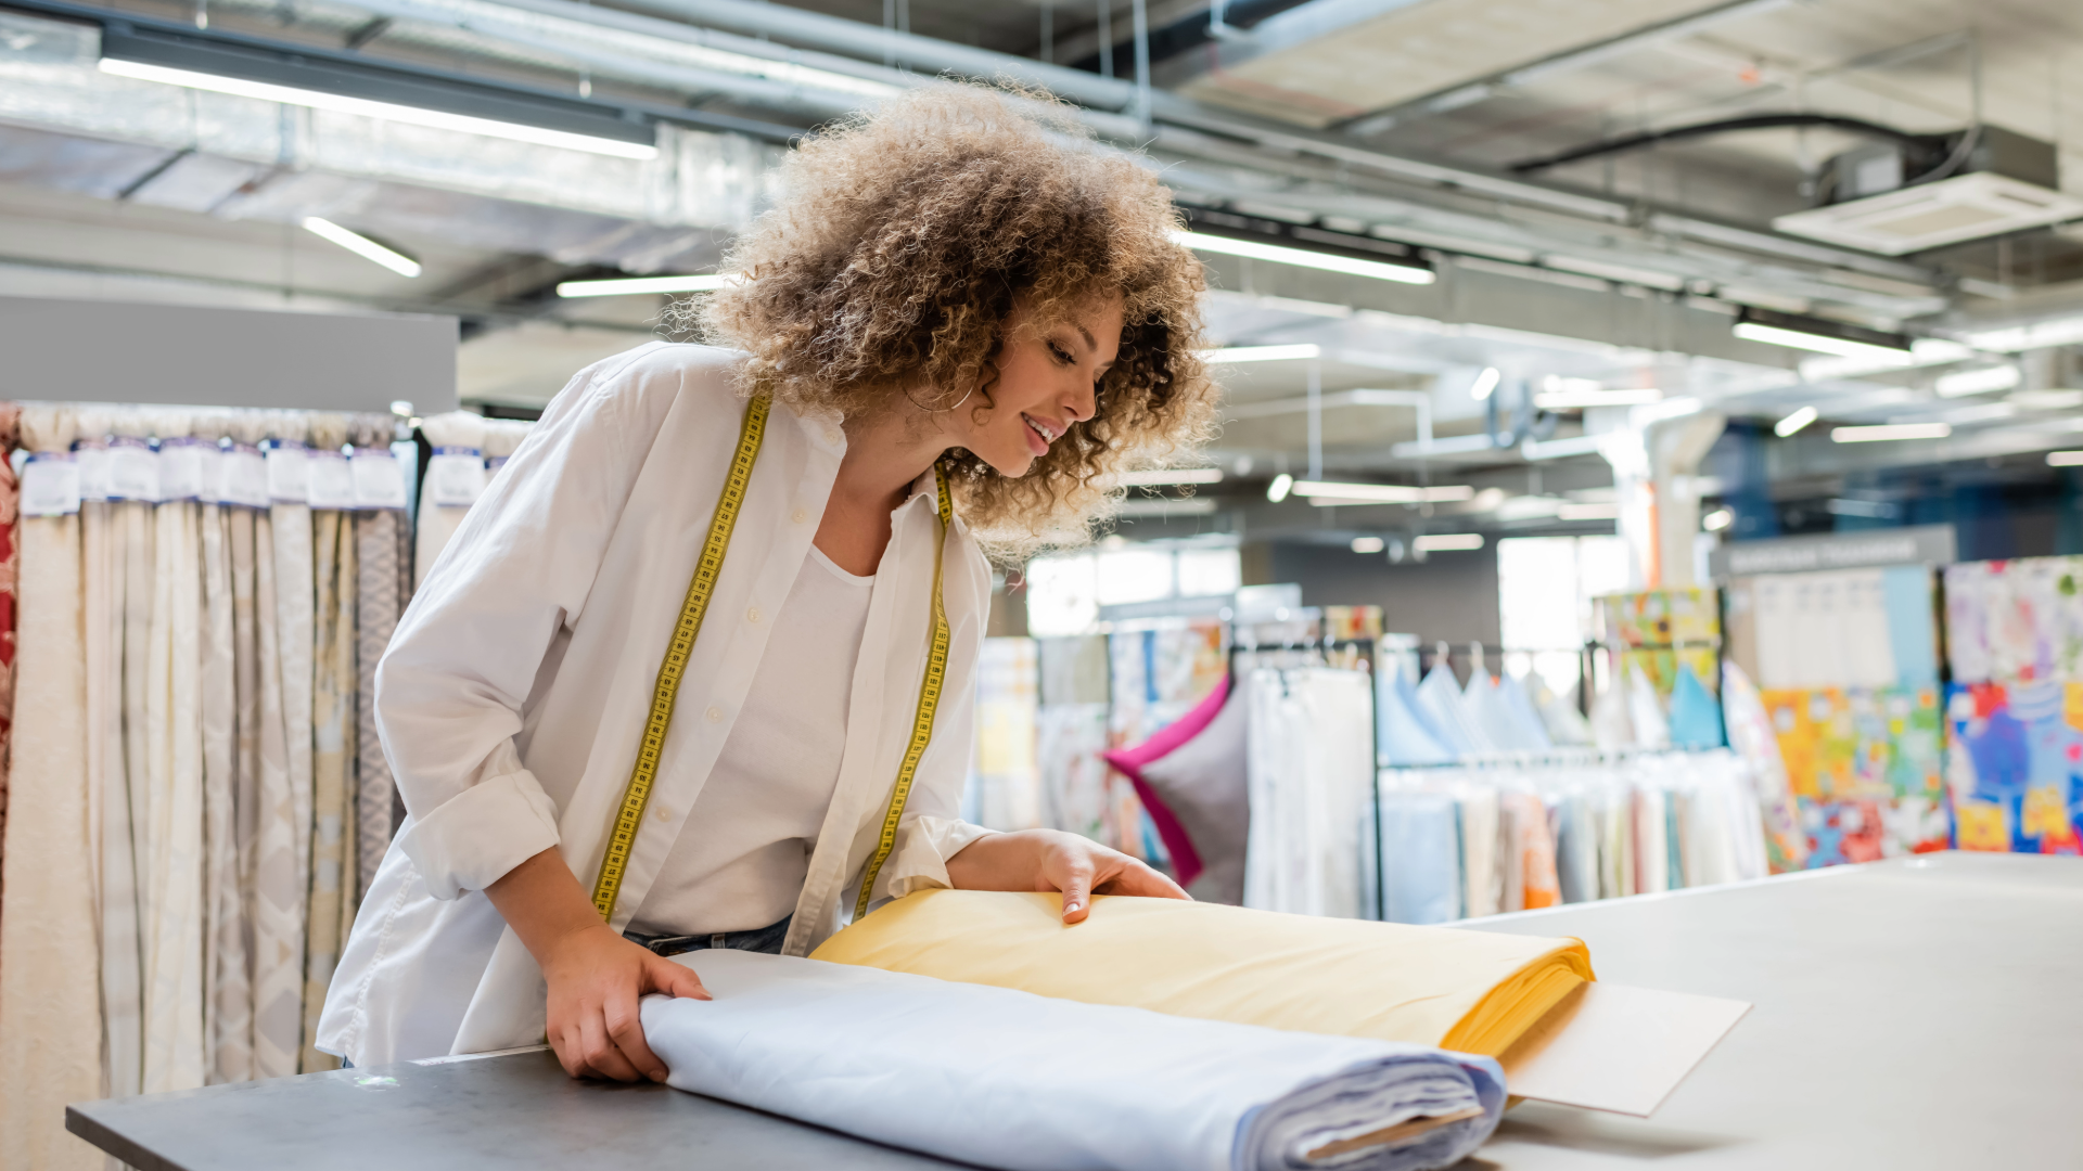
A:
[[[637,1000],[650,992],[710,998],[694,969],[656,956],[598,921],[562,936],[550,948],[542,975],[550,981],[550,1048],[573,1077],[664,1081],[664,1063],[644,1044]]]

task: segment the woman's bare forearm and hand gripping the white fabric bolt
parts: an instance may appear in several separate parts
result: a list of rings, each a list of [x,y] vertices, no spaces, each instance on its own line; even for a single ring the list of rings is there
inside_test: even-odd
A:
[[[485,896],[550,981],[550,1048],[564,1073],[664,1081],[664,1063],[644,1044],[637,1000],[648,992],[708,1000],[694,969],[660,958],[602,923],[556,846],[506,871],[485,888]]]

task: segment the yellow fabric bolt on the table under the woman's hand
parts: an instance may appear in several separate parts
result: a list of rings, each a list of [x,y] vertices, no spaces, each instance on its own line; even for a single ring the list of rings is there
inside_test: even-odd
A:
[[[1498,1056],[1591,975],[1581,940],[1275,915],[1171,898],[925,890],[810,958],[1039,996]]]

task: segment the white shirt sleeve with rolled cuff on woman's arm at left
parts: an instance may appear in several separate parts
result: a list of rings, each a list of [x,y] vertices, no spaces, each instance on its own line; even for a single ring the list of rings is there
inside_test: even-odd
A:
[[[639,350],[642,354],[642,350]],[[585,606],[648,454],[623,356],[581,371],[471,506],[377,663],[377,733],[427,890],[483,890],[558,844],[558,808],[515,736],[558,631]]]

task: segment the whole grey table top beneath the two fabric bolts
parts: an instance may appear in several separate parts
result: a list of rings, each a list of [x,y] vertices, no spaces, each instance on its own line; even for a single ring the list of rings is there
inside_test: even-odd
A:
[[[2077,1167],[2083,861],[1931,854],[1485,919],[1579,936],[1602,979],[1756,1008],[1654,1119],[1527,1102],[1469,1167]],[[85,1102],[142,1171],[954,1167],[546,1052]]]

